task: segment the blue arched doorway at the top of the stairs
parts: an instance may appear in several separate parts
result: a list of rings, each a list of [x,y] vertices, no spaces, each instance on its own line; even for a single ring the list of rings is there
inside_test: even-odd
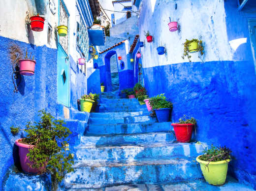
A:
[[[105,56],[106,91],[119,90],[119,70],[116,51],[109,51]]]

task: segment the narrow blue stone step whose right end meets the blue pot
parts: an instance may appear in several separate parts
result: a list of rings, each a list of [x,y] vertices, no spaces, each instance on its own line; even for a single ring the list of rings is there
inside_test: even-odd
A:
[[[148,115],[148,111],[91,113],[92,118],[121,118]]]

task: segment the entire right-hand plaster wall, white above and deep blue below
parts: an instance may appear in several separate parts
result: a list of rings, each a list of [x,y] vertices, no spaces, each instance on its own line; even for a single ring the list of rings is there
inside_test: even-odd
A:
[[[169,32],[169,17],[179,22],[181,33]],[[229,172],[256,189],[256,73],[248,30],[248,19],[253,18],[253,11],[238,12],[233,0],[142,0],[139,32],[145,45],[140,50],[148,95],[165,93],[175,103],[173,122],[184,114],[194,117],[196,140],[230,148],[235,160]],[[144,31],[155,41],[146,42]],[[197,53],[191,54],[192,63],[182,60],[182,43],[199,35],[206,62],[201,63]],[[241,38],[247,40],[237,47],[230,43]],[[166,55],[157,54],[161,42]]]

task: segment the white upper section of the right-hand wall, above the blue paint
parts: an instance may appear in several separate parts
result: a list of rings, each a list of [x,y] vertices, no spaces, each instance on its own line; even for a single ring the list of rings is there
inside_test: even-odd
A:
[[[169,31],[169,17],[181,25],[180,33]],[[145,44],[141,48],[143,67],[188,62],[188,59],[181,58],[184,48],[182,43],[200,35],[206,42],[205,61],[232,60],[224,0],[142,0],[138,26],[140,40]],[[149,31],[155,40],[148,43],[144,31]],[[160,44],[165,46],[166,55],[158,55],[156,48]],[[197,53],[191,56],[192,62],[200,62]]]

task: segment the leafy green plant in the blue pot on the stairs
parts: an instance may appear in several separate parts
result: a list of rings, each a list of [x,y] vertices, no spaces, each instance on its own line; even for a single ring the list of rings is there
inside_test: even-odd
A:
[[[152,107],[152,109],[172,108],[172,102],[167,101],[164,94],[150,97],[149,104]]]

